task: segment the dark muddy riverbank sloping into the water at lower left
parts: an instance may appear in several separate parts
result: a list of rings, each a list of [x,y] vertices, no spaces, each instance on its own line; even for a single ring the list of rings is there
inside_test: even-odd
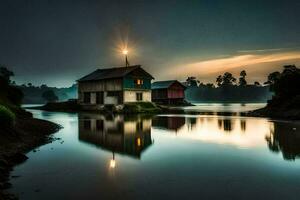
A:
[[[13,167],[26,161],[28,151],[48,142],[51,134],[58,131],[59,125],[32,117],[18,117],[14,128],[0,129],[0,199],[17,199],[6,192],[10,171]]]

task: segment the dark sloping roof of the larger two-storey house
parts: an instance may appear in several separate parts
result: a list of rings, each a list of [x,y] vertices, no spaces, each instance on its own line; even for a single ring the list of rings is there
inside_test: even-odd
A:
[[[140,65],[128,66],[128,67],[115,67],[107,69],[97,69],[96,71],[80,78],[78,82],[84,81],[97,81],[111,78],[122,78],[136,69],[142,69]],[[143,69],[142,69],[143,70]],[[143,70],[151,79],[154,79],[148,72]]]

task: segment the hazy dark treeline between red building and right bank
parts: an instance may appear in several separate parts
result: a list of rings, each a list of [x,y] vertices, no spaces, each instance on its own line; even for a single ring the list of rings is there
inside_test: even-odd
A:
[[[240,77],[235,78],[225,72],[216,78],[216,83],[201,83],[196,77],[188,77],[185,85],[186,100],[190,102],[267,102],[272,98],[269,80],[264,84],[254,82],[248,84],[247,73],[241,71]]]

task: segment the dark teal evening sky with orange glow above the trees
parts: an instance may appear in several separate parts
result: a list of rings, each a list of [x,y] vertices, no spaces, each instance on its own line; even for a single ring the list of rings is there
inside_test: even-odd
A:
[[[0,64],[18,84],[66,87],[97,68],[141,64],[155,80],[264,82],[300,65],[298,0],[0,0]]]

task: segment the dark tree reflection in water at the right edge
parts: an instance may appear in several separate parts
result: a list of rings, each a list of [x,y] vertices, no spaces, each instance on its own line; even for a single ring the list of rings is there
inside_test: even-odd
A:
[[[268,147],[273,152],[280,152],[286,160],[295,160],[300,156],[300,130],[299,125],[290,123],[274,123],[274,130],[266,136]]]

